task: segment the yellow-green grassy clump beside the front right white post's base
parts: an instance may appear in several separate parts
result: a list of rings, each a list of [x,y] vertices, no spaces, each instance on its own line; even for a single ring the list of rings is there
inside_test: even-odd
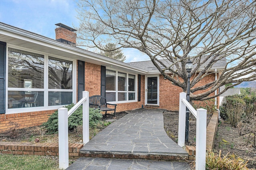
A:
[[[226,154],[221,157],[219,154],[214,154],[211,150],[206,152],[206,170],[247,170],[247,162],[232,154]]]

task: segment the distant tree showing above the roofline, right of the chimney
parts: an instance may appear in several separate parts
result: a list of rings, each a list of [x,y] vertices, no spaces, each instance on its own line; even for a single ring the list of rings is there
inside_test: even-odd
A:
[[[122,53],[122,50],[116,49],[116,44],[114,43],[108,43],[104,45],[102,49],[104,50],[100,51],[100,55],[104,55],[106,57],[110,57],[112,59],[119,60],[119,61],[125,61],[126,59],[126,57]]]

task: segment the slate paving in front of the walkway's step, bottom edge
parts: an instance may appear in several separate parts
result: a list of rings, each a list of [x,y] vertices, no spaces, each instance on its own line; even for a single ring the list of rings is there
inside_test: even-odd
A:
[[[190,170],[190,165],[157,160],[79,158],[66,170]]]

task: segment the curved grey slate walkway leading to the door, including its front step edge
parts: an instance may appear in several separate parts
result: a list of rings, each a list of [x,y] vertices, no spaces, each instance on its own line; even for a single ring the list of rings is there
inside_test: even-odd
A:
[[[81,156],[184,160],[188,153],[164,130],[164,109],[136,109],[98,133]]]

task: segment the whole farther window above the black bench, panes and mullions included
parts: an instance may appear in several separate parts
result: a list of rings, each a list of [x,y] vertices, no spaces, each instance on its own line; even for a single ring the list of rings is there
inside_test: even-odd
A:
[[[107,102],[135,101],[136,75],[106,69]]]

